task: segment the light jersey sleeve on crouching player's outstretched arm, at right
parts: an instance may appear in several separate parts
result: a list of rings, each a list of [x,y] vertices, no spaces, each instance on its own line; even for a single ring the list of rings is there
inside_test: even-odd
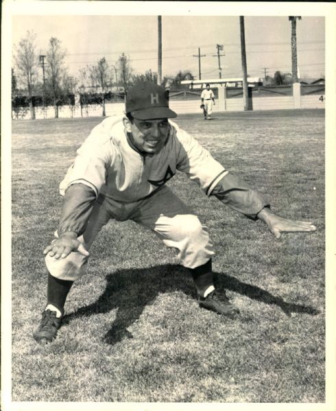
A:
[[[228,172],[205,148],[184,130],[176,129],[176,168],[195,181],[210,196]]]

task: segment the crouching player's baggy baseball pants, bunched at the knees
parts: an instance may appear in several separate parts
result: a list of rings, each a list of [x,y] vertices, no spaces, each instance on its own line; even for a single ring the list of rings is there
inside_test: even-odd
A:
[[[167,186],[160,187],[148,198],[131,203],[99,196],[84,234],[78,237],[80,242],[89,249],[101,228],[111,219],[133,220],[151,229],[165,246],[178,249],[180,264],[184,267],[197,268],[214,255],[206,226]],[[116,247],[117,244],[110,246]],[[47,269],[53,277],[70,281],[85,274],[87,262],[88,257],[78,252],[70,253],[64,259],[49,255],[45,258]]]

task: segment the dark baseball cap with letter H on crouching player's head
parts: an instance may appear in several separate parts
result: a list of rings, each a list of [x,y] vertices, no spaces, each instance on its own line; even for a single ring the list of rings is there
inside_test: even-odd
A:
[[[126,94],[126,113],[139,120],[177,117],[169,108],[168,93],[169,91],[153,82],[139,82]]]

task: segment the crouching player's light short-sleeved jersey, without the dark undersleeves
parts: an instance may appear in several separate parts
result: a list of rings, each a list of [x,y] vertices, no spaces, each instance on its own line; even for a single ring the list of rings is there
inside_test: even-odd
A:
[[[143,155],[132,147],[123,117],[110,117],[93,128],[77,150],[75,163],[60,184],[60,192],[75,183],[91,187],[120,202],[134,202],[152,194],[176,171],[186,173],[207,196],[228,172],[187,132],[169,121],[167,142],[160,152]]]

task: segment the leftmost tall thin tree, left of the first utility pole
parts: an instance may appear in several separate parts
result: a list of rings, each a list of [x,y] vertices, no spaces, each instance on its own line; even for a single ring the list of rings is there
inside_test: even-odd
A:
[[[35,119],[33,86],[36,81],[36,69],[38,67],[35,41],[36,34],[28,30],[25,37],[21,39],[19,45],[16,47],[16,54],[14,56],[19,77],[22,78],[27,86],[31,119]]]

